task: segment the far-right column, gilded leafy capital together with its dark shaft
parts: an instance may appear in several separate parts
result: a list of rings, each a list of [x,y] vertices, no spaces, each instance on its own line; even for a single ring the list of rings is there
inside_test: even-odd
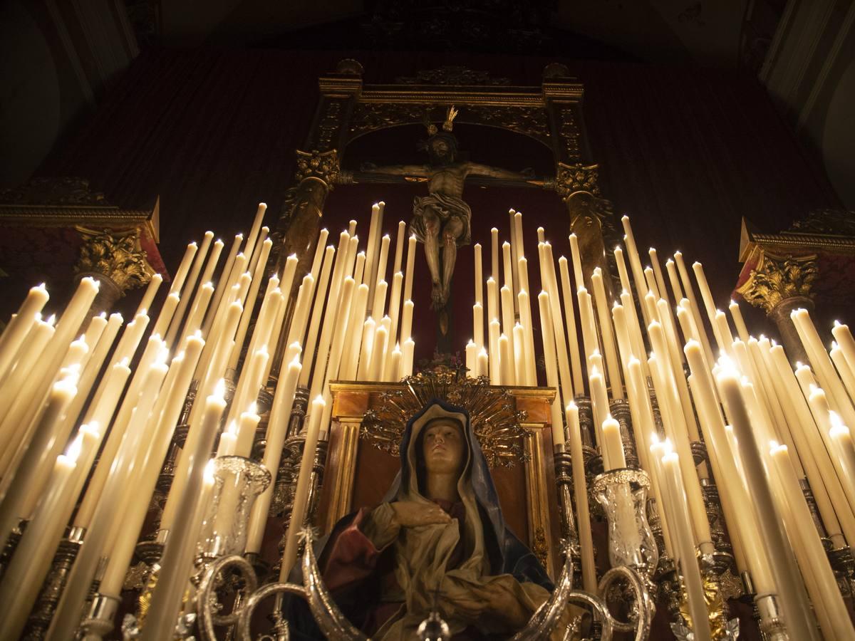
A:
[[[809,362],[790,312],[801,307],[813,311],[811,285],[819,275],[817,255],[779,256],[761,250],[739,292],[748,303],[764,309],[778,332],[791,362]]]

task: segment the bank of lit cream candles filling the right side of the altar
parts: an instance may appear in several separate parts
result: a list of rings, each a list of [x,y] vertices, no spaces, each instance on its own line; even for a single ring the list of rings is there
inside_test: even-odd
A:
[[[520,216],[512,214],[512,230],[516,222],[514,215],[516,220]],[[722,512],[739,570],[752,573],[758,593],[780,595],[791,613],[793,630],[804,633],[805,638],[815,637],[815,632],[809,630],[812,615],[807,606],[808,597],[811,602],[822,601],[819,607],[814,603],[814,608],[824,631],[834,634],[834,638],[852,638],[852,626],[846,617],[841,618],[840,592],[836,590],[828,559],[822,553],[819,533],[815,528],[811,530],[812,525],[805,531],[805,523],[811,521],[801,518],[808,508],[799,489],[799,479],[806,479],[811,485],[834,549],[852,540],[851,536],[847,538],[845,535],[847,531],[853,534],[852,517],[855,515],[852,512],[855,505],[852,502],[855,498],[852,493],[855,456],[852,455],[849,430],[845,426],[855,425],[855,409],[852,408],[852,398],[855,398],[855,341],[848,328],[835,324],[832,330],[835,342],[827,353],[807,312],[793,312],[793,321],[799,328],[811,362],[815,364],[819,383],[831,392],[827,399],[809,368],[800,366],[793,372],[781,346],[763,337],[758,340],[749,336],[738,303],[731,302],[728,310],[740,337],[734,339],[726,315],[715,308],[700,263],[692,266],[696,285],[689,277],[680,252],[665,263],[663,271],[656,250],[651,249],[648,252],[651,266],[642,268],[627,217],[622,219],[622,224],[624,248],[615,250],[622,293],[615,298],[611,309],[599,269],[594,270],[589,280],[593,286],[593,297],[583,285],[578,243],[571,235],[569,245],[578,285],[574,309],[569,263],[563,256],[558,260],[558,273],[562,279],[559,289],[551,244],[545,241],[542,228],[538,230],[543,286],[538,296],[538,308],[545,376],[547,385],[557,388],[557,398],[552,406],[553,442],[568,446],[575,463],[582,574],[587,589],[595,588],[596,573],[582,472],[578,408],[573,400],[585,389],[582,362],[587,366],[587,391],[593,406],[595,438],[607,471],[626,465],[620,426],[609,413],[610,397],[622,399],[624,391],[628,397],[636,450],[641,466],[652,476],[652,493],[660,506],[664,544],[669,555],[681,561],[694,614],[699,615],[705,607],[695,550],[704,554],[713,551],[701,492],[701,480],[709,476],[709,471],[705,463],[695,466],[691,450],[691,443],[699,441],[703,433],[712,472],[719,484]],[[514,235],[511,234],[512,237]],[[493,269],[498,273],[498,232],[495,230],[492,241]],[[510,253],[507,245],[506,256]],[[492,369],[485,368],[486,359],[489,357],[492,361],[497,353],[499,358],[496,360],[504,362],[502,359],[508,352],[507,348],[497,352],[478,347],[478,338],[483,336],[483,308],[479,300],[482,291],[480,250],[476,245],[475,338],[467,345],[467,367],[475,375],[489,374],[493,383],[522,382],[525,379],[513,379],[501,368],[498,378]],[[523,264],[520,263],[521,266]],[[517,274],[521,272],[527,275],[517,270]],[[670,295],[674,297],[673,306],[665,273]],[[505,277],[508,289],[511,282],[519,288],[518,283],[524,281],[524,276],[520,275],[516,276],[518,280],[512,280],[515,277],[510,270],[505,270]],[[487,280],[488,294],[491,280]],[[704,305],[712,341],[701,316],[695,286]],[[493,282],[493,291],[494,288]],[[517,289],[517,293],[519,291]],[[638,308],[633,292],[640,303]],[[523,309],[517,307],[516,313],[520,321],[524,321]],[[500,309],[498,316],[503,314],[504,309]],[[507,316],[514,318],[510,314]],[[501,324],[498,317],[489,317],[492,332],[496,334]],[[576,330],[577,317],[580,332]],[[578,339],[579,334],[581,340]],[[502,333],[498,335],[500,338],[504,336]],[[723,360],[714,359],[713,345]],[[493,347],[492,344],[490,346]],[[692,372],[688,379],[682,370],[684,362],[688,362]],[[738,383],[735,387],[734,379]],[[657,432],[654,422],[649,387],[656,393],[662,412],[661,433]],[[739,403],[747,408],[747,425],[737,425]],[[562,429],[565,422],[568,444],[564,443]],[[741,439],[738,438],[740,429],[745,431]],[[749,445],[747,432],[760,436]],[[752,458],[755,450],[762,462],[760,468],[752,468],[756,463]],[[798,491],[792,491],[793,487]],[[789,488],[790,491],[781,491],[780,488]],[[762,496],[764,491],[773,490],[774,503],[770,500],[761,505],[762,502],[751,500]],[[750,503],[757,505],[758,509],[747,518],[740,518],[740,507],[744,509]],[[781,524],[785,525],[789,538],[782,535]],[[773,525],[781,536],[767,531]],[[699,623],[701,629],[696,631],[697,638],[709,638],[710,632],[704,630],[704,626]]]

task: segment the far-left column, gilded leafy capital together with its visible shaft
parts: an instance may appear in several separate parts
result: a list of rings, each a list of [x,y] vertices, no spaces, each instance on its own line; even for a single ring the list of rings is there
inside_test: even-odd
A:
[[[75,285],[86,276],[100,283],[91,315],[109,312],[128,290],[149,282],[154,269],[139,246],[139,228],[98,231],[79,226],[77,231],[83,244],[74,266]]]

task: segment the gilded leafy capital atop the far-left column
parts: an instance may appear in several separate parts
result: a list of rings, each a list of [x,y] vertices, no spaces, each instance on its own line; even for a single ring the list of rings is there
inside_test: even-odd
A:
[[[139,228],[125,233],[78,229],[84,243],[80,247],[76,273],[103,274],[115,283],[122,295],[149,282],[154,270],[139,246]]]

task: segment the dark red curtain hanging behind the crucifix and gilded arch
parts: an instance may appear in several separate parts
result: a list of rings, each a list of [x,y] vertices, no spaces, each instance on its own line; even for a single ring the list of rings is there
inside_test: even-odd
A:
[[[344,57],[363,62],[365,81],[444,64],[463,64],[539,85],[547,59],[502,56],[390,55],[282,50],[153,50],[113,87],[97,114],[40,170],[91,180],[124,206],[161,197],[161,252],[168,268],[187,242],[213,229],[227,242],[247,228],[256,204],[278,215],[291,184],[294,150],[303,145],[317,100],[317,76]],[[778,231],[810,209],[837,205],[823,176],[805,159],[755,79],[735,72],[653,67],[627,63],[565,62],[585,85],[584,118],[601,166],[605,197],[618,214],[632,217],[640,249],[654,245],[664,259],[682,250],[705,264],[716,299],[724,304],[739,273],[740,219]],[[472,160],[491,163],[507,150],[477,137],[461,148]],[[413,140],[413,144],[416,140]],[[520,157],[511,169],[529,166]],[[423,186],[422,186],[423,189]],[[327,221],[357,218],[367,233],[369,206],[388,203],[386,231],[409,220],[415,186],[339,187]],[[503,232],[507,210],[520,209],[526,250],[536,273],[534,228],[543,225],[555,254],[567,253],[568,221],[554,194],[468,187],[473,238],[485,244],[489,273],[491,226]],[[472,250],[461,250],[455,287],[460,349],[471,333]],[[417,332],[431,335],[427,268],[416,262],[423,295],[416,301]],[[534,282],[532,283],[534,288]],[[423,294],[422,294],[423,292]],[[534,292],[536,293],[536,291]],[[139,294],[127,297],[133,310]],[[425,314],[422,314],[425,313]],[[752,317],[749,314],[749,321]],[[535,314],[535,325],[537,325]],[[426,332],[428,332],[426,334]],[[422,356],[431,341],[422,340]]]

